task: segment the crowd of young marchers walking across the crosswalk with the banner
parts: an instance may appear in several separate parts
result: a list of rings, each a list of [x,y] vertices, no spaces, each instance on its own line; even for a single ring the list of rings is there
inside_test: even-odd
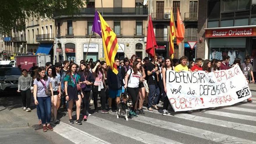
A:
[[[180,59],[163,58],[140,58],[133,55],[130,59],[115,58],[115,65],[118,74],[115,74],[105,61],[97,60],[93,62],[81,60],[80,64],[72,61],[63,63],[50,62],[45,67],[33,65],[31,69],[22,70],[22,76],[18,81],[18,92],[21,92],[24,111],[31,111],[30,98],[33,93],[34,103],[37,109],[38,125],[43,125],[43,131],[53,130],[50,122],[58,124],[57,114],[59,108],[67,111],[69,123],[73,124],[73,107],[75,104],[76,120],[75,123],[81,125],[88,117],[95,113],[111,113],[116,111],[117,104],[125,102],[127,97],[122,94],[128,93],[133,106],[129,111],[130,117],[137,117],[144,114],[143,105],[149,111],[158,110],[157,104],[163,104],[162,115],[170,115],[168,106],[170,102],[166,95],[166,71],[205,71],[215,72],[227,70],[234,65],[239,65],[245,78],[250,83],[254,83],[253,66],[250,63],[250,56],[246,56],[245,61],[237,58],[233,65],[229,65],[229,56],[223,56],[223,60],[202,60],[196,58],[195,61],[188,62],[186,56]],[[100,97],[101,107],[98,106]],[[248,99],[247,102],[252,102]],[[90,104],[94,109],[90,110]],[[82,110],[83,117],[80,118]],[[199,111],[205,112],[204,109]],[[191,113],[192,111],[187,111]]]

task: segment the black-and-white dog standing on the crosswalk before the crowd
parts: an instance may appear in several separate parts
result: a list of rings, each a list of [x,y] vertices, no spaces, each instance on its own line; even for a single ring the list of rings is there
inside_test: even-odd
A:
[[[125,120],[128,121],[128,115],[130,108],[132,107],[132,101],[128,100],[126,103],[125,102],[120,102],[117,106],[117,111],[116,111],[116,118],[121,117],[121,113],[125,113]]]

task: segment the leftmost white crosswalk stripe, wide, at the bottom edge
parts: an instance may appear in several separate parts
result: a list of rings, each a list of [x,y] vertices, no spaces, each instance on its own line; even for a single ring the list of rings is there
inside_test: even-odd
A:
[[[54,127],[54,131],[75,144],[111,144],[64,122],[60,122],[60,124]]]

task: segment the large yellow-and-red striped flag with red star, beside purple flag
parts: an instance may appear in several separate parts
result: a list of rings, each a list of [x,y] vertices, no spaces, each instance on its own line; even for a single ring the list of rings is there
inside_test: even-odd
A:
[[[118,50],[118,42],[116,34],[112,31],[103,17],[99,14],[100,24],[101,24],[101,33],[102,33],[102,42],[104,48],[104,55],[106,59],[106,64],[111,66],[111,69],[115,74],[118,74],[117,66],[115,65],[115,55]]]

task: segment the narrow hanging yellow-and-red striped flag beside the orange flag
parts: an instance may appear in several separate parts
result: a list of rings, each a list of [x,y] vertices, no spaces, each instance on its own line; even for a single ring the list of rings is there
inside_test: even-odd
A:
[[[170,57],[173,59],[174,57],[174,38],[176,37],[176,30],[175,30],[175,22],[174,22],[174,16],[173,16],[173,11],[171,11],[171,19],[170,19],[170,45],[169,45],[169,50],[170,50]]]

